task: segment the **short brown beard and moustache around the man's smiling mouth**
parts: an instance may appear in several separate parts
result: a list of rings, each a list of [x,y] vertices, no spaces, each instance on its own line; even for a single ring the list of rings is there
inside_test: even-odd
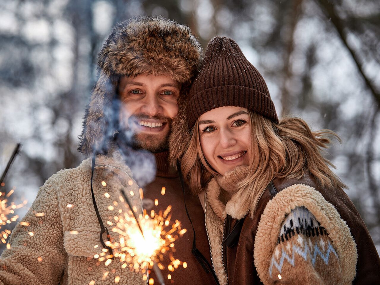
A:
[[[135,126],[136,121],[154,119],[165,123],[168,127],[165,132],[150,134],[145,132],[139,132],[138,130],[132,130],[128,126]],[[127,144],[134,149],[144,149],[153,153],[162,152],[168,149],[169,136],[171,133],[172,119],[164,117],[162,115],[147,116],[145,114],[136,114],[128,118],[128,125],[125,126],[125,121],[120,122],[119,132],[123,133],[124,138],[127,139]]]

